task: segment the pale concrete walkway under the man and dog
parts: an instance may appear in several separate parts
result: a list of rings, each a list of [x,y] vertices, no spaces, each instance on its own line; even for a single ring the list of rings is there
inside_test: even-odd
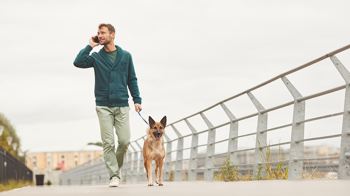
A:
[[[349,180],[264,180],[248,182],[182,181],[147,187],[147,183],[24,187],[0,192],[0,196],[349,196]]]

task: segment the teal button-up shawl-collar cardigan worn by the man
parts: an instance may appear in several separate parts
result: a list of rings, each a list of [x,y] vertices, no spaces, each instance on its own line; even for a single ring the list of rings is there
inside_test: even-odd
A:
[[[128,90],[134,104],[141,104],[137,77],[131,54],[117,46],[117,58],[112,65],[104,47],[99,52],[90,52],[92,47],[87,45],[79,52],[73,64],[79,68],[94,68],[95,98],[97,106],[125,107],[128,104]]]

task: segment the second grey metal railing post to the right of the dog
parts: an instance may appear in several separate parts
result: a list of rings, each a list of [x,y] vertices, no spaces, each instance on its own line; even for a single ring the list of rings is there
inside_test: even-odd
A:
[[[183,159],[183,137],[180,132],[172,125],[178,139],[177,139],[177,152],[175,162],[174,181],[182,181],[182,159]]]

